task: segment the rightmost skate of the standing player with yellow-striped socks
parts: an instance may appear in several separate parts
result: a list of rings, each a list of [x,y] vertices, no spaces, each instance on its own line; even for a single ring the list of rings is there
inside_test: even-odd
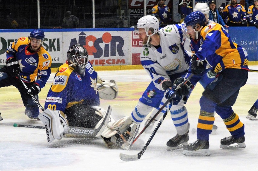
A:
[[[224,149],[245,148],[246,144],[244,142],[245,142],[245,136],[235,139],[231,135],[230,137],[225,137],[220,140],[220,148],[224,148]]]

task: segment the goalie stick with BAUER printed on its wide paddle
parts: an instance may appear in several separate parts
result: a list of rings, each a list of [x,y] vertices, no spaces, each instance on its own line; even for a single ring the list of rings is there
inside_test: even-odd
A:
[[[101,125],[97,128],[85,128],[85,127],[72,127],[72,126],[64,126],[64,134],[67,135],[76,135],[80,137],[98,137],[108,124],[109,117],[111,115],[112,108],[108,106],[107,114],[104,117]],[[28,128],[38,128],[45,129],[44,126],[34,126],[34,125],[23,125],[23,124],[13,124],[14,127],[28,127]]]

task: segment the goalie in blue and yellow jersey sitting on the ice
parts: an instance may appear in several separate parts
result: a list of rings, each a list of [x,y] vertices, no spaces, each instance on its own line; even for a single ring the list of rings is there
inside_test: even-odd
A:
[[[47,113],[42,112],[39,115],[43,124],[52,121],[55,125],[49,125],[52,130],[52,139],[61,140],[63,131],[60,127],[59,117],[65,123],[75,127],[98,127],[107,111],[98,107],[99,98],[106,100],[117,96],[117,85],[114,80],[104,81],[98,77],[91,63],[88,62],[89,55],[87,50],[80,44],[74,44],[67,52],[67,61],[58,68],[54,81],[49,89],[45,108]],[[101,84],[98,86],[98,84]],[[64,113],[64,116],[58,113]],[[57,121],[54,121],[54,119]],[[118,146],[127,149],[127,143],[130,144],[138,132],[139,124],[125,123],[127,117],[115,121],[111,116],[108,125],[101,133],[101,137],[108,147]],[[127,143],[117,134],[117,130],[123,134]],[[50,133],[49,133],[50,134]]]

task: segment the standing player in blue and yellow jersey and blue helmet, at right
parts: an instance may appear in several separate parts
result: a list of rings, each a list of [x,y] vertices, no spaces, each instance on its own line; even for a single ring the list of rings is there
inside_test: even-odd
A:
[[[209,156],[209,134],[214,123],[214,112],[223,119],[231,136],[221,139],[221,148],[244,148],[244,124],[233,111],[240,87],[248,78],[246,50],[233,43],[229,34],[217,23],[207,25],[205,16],[195,11],[185,18],[190,36],[201,36],[201,47],[192,55],[191,71],[203,73],[208,64],[216,73],[216,79],[204,90],[200,98],[200,115],[197,124],[197,141],[184,146],[184,155]],[[232,144],[238,145],[233,146]]]

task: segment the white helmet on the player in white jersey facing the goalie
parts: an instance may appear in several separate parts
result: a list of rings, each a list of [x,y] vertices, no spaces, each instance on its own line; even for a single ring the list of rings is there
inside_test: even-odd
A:
[[[152,36],[153,34],[157,33],[159,31],[159,26],[159,20],[152,15],[143,16],[137,22],[137,28],[144,28],[147,36]],[[153,28],[154,31],[151,35],[148,35],[150,28]]]

